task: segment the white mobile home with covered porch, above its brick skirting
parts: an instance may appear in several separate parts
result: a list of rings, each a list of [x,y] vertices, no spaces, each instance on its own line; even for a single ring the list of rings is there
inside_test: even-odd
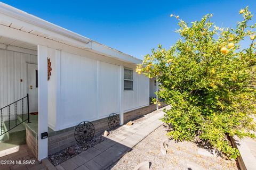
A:
[[[50,134],[49,140],[41,139],[49,128],[58,134],[111,113],[119,114],[123,124],[124,113],[149,106],[149,79],[134,71],[139,63],[138,58],[0,3],[1,131],[17,120],[22,123],[27,111],[37,113],[38,142],[31,146],[41,160],[50,146],[63,148],[49,142]]]

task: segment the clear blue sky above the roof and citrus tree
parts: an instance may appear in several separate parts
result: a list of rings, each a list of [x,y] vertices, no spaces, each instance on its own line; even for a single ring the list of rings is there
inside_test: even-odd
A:
[[[168,48],[179,39],[177,20],[170,14],[191,22],[213,13],[212,21],[225,27],[242,20],[238,11],[247,5],[256,15],[255,0],[2,2],[138,58],[158,44]]]

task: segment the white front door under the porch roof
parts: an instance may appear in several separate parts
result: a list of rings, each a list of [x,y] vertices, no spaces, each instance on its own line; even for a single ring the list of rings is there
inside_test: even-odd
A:
[[[37,64],[28,63],[29,113],[38,112],[38,69]]]

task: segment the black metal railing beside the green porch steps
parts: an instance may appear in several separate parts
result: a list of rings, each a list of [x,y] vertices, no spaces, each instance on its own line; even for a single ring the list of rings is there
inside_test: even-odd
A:
[[[27,100],[27,112],[28,112],[28,117],[26,119],[24,119],[24,100]],[[21,113],[22,113],[22,121],[20,123],[17,124],[17,104],[21,102]],[[10,111],[10,107],[13,106],[13,112],[15,113],[15,125],[13,127],[10,128],[10,115],[11,115],[11,111]],[[7,131],[3,132],[3,109],[7,109],[8,111],[8,129]],[[28,121],[29,122],[29,96],[27,94],[26,97],[23,97],[13,103],[11,103],[10,105],[7,105],[3,108],[0,108],[0,112],[1,112],[1,135],[9,132],[10,130],[12,130],[13,128],[17,127],[18,125],[20,125],[21,123]],[[7,128],[7,127],[6,127]],[[0,135],[0,136],[1,136]]]

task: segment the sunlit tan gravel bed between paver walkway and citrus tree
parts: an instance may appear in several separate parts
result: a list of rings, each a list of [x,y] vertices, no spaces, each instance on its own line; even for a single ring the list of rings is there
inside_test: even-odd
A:
[[[204,169],[239,169],[235,160],[198,155],[197,146],[192,142],[171,141],[169,151],[164,156],[160,151],[160,143],[166,139],[166,130],[164,126],[160,126],[108,170],[133,169],[144,161],[151,162],[150,169],[157,170],[188,169],[188,164],[196,164]]]

